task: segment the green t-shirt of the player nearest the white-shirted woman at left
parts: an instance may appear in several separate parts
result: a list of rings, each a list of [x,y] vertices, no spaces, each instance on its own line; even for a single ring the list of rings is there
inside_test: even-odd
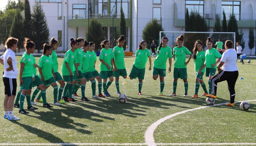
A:
[[[22,55],[22,59],[20,60],[20,64],[21,63],[25,63],[25,66],[23,68],[23,73],[22,73],[22,77],[29,77],[29,76],[33,76],[33,72],[31,72],[33,70],[33,66],[34,66],[34,62],[33,62],[33,58],[31,55],[28,55],[27,53]]]

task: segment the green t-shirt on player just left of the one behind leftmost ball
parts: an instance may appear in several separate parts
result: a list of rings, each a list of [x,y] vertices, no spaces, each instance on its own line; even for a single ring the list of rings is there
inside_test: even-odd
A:
[[[101,62],[100,63],[100,71],[111,71],[112,70],[111,69],[111,59],[112,58],[114,58],[114,55],[110,48],[108,50],[106,50],[105,48],[100,50],[99,59],[104,60],[110,66],[110,69],[108,69],[108,67]]]

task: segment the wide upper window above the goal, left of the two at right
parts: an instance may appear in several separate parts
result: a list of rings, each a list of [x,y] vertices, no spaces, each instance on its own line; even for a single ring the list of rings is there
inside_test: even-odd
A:
[[[188,9],[188,13],[198,12],[203,16],[203,5],[203,0],[186,0],[186,9]]]

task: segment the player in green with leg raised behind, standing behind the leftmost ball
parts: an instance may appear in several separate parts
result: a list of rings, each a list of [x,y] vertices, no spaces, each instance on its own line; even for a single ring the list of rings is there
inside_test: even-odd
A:
[[[115,56],[113,58],[113,65],[114,65],[113,75],[115,77],[117,94],[121,95],[121,92],[119,90],[119,76],[123,76],[124,79],[127,78],[127,72],[125,69],[125,60],[124,60],[124,48],[123,48],[123,45],[125,43],[125,36],[121,35],[117,39],[117,42],[118,42],[118,45],[113,49],[113,55]]]

